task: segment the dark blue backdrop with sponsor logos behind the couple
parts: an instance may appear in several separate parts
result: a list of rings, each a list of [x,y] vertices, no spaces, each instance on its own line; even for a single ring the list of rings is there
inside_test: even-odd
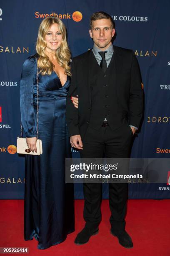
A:
[[[24,157],[16,153],[16,139],[20,135],[20,74],[25,59],[35,53],[41,20],[48,15],[62,19],[74,57],[92,47],[89,18],[99,10],[109,13],[115,21],[114,44],[133,49],[140,64],[145,114],[131,156],[170,156],[169,0],[1,0],[0,199],[24,197]],[[79,157],[78,152],[72,151],[72,154]],[[167,174],[168,171],[170,167]],[[104,198],[107,198],[107,189],[105,184]],[[76,184],[75,198],[82,196],[82,184]],[[130,184],[129,198],[170,198],[170,186]]]

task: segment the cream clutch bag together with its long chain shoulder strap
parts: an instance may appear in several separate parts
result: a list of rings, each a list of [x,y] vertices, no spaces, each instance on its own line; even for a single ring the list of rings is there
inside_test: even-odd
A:
[[[35,56],[35,58],[37,60],[36,56]],[[36,155],[36,156],[40,156],[40,154],[42,154],[42,140],[38,139],[38,93],[39,93],[38,78],[39,78],[39,76],[38,76],[38,66],[37,66],[37,142],[36,142],[37,153],[35,151],[32,152],[28,148],[26,138],[23,138],[23,124],[21,123],[21,137],[17,138],[17,153],[18,154],[28,154],[28,155]]]

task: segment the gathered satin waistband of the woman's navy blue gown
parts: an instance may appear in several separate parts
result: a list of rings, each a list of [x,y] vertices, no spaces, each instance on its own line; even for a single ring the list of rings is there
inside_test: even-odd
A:
[[[39,101],[51,101],[51,100],[66,100],[67,91],[56,90],[56,91],[45,91],[39,92]],[[37,101],[37,94],[34,94],[34,101]]]

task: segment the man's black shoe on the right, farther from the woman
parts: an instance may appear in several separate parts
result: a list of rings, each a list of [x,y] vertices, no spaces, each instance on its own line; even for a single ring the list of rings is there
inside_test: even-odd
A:
[[[133,248],[133,241],[125,230],[116,232],[116,231],[113,231],[111,228],[110,233],[113,236],[116,236],[118,238],[121,246],[123,246],[125,248]]]

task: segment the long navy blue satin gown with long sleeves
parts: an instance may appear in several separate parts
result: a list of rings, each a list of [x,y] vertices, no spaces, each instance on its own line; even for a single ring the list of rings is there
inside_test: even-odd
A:
[[[36,137],[37,61],[23,64],[20,82],[21,120],[26,137]],[[73,184],[65,184],[65,158],[71,158],[65,120],[70,78],[62,86],[55,72],[39,75],[38,138],[40,156],[25,155],[24,238],[45,249],[64,241],[74,231]]]

